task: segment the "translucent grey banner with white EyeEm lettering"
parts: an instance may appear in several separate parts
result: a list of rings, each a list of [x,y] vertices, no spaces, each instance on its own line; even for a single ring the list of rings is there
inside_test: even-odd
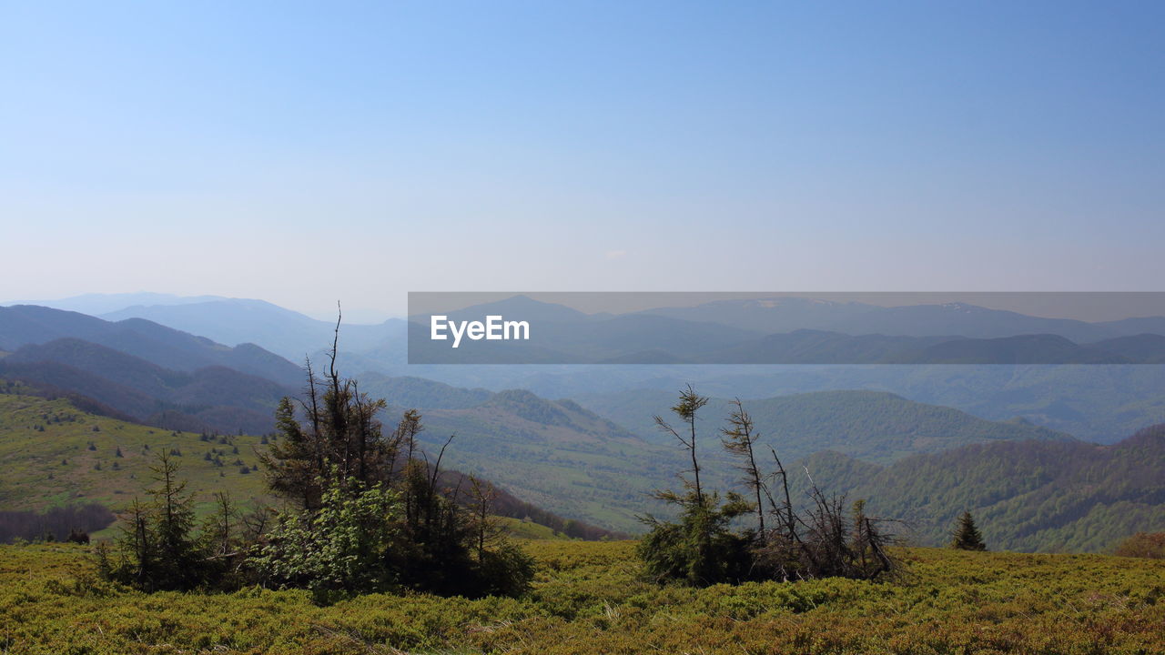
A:
[[[410,293],[409,364],[1165,362],[1165,293]]]

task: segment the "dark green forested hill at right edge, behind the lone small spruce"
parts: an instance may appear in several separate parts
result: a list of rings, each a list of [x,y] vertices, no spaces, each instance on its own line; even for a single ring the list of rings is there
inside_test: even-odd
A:
[[[991,549],[1106,551],[1132,533],[1165,530],[1165,425],[1107,446],[996,442],[889,466],[835,452],[803,464],[827,492],[905,520],[925,545],[946,543],[963,510]],[[804,476],[793,478],[803,490]]]

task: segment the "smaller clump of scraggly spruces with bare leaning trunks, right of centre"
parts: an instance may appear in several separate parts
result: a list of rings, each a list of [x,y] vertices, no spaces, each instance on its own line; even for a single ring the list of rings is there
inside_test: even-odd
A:
[[[739,469],[744,473],[746,486],[755,492],[756,502],[728,492],[721,503],[716,492],[702,491],[696,423],[697,413],[705,404],[707,399],[697,395],[689,386],[680,392],[679,403],[672,407],[672,411],[687,425],[686,430],[677,431],[656,416],[656,424],[687,451],[691,458],[687,471],[692,473],[692,478],[680,476],[685,493],[656,492],[656,498],[679,508],[677,522],[659,521],[651,515],[644,517],[650,531],[640,543],[638,555],[656,582],[672,579],[707,586],[739,584],[747,579],[829,576],[871,579],[897,571],[898,563],[889,554],[894,538],[877,526],[877,521],[866,515],[864,501],[854,503],[853,514],[847,517],[842,498],[827,498],[813,486],[811,506],[800,515],[795,513],[789,500],[785,471],[776,451],[770,448],[776,473],[767,474],[757,464],[755,446],[758,435],[754,432],[753,420],[740,401],[736,401],[735,410],[728,418],[728,428],[721,430],[725,437],[721,445],[741,462]],[[782,501],[774,498],[770,488],[770,480],[777,477],[782,483]],[[736,519],[751,513],[756,513],[756,529],[732,529]]]

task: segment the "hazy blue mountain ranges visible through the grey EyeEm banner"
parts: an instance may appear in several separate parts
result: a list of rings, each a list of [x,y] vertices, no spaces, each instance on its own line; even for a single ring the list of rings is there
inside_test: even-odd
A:
[[[716,301],[693,308],[587,315],[527,296],[447,315],[528,322],[528,340],[430,338],[428,316],[409,324],[414,364],[1149,364],[1153,341],[1109,350],[1110,339],[1165,319],[1104,324],[1040,318],[966,303],[881,308],[805,298]],[[1165,331],[1165,330],[1163,330]]]

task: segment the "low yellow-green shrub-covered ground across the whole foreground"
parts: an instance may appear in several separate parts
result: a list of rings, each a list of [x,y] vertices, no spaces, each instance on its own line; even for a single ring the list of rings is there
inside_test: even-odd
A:
[[[126,591],[83,547],[0,547],[0,653],[1165,653],[1165,562],[910,549],[906,579],[647,583],[633,542],[530,541],[534,590],[466,600]]]

